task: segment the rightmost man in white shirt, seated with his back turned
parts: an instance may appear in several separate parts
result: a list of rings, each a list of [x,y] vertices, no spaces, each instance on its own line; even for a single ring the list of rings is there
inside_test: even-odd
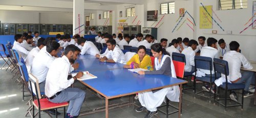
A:
[[[230,51],[226,52],[223,56],[223,60],[228,62],[229,75],[227,76],[227,79],[232,83],[245,83],[244,97],[246,98],[253,94],[249,92],[249,86],[251,81],[255,79],[255,75],[254,72],[251,71],[244,71],[241,73],[240,68],[241,65],[243,65],[243,68],[245,69],[252,69],[253,67],[246,57],[242,53],[239,53],[240,45],[238,42],[230,42],[229,47]],[[221,76],[225,77],[223,74]],[[237,101],[236,93],[232,92],[232,94],[230,94],[230,98]]]

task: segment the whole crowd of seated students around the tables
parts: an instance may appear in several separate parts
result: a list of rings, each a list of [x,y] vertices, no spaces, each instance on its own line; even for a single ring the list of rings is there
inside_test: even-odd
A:
[[[13,49],[15,49],[25,60],[28,72],[33,74],[39,82],[41,92],[45,92],[47,99],[53,103],[61,103],[70,101],[66,117],[78,117],[81,105],[84,101],[86,93],[78,88],[69,87],[74,83],[74,80],[83,75],[82,72],[77,73],[72,78],[67,79],[68,75],[79,67],[75,63],[79,54],[91,54],[99,58],[102,63],[121,63],[124,68],[134,69],[143,68],[150,71],[139,71],[141,75],[144,74],[164,74],[170,77],[176,77],[175,68],[172,61],[172,53],[182,53],[186,57],[185,72],[195,72],[195,55],[207,56],[213,58],[223,58],[228,62],[229,75],[228,80],[232,83],[245,82],[245,97],[250,96],[249,85],[254,80],[253,72],[240,73],[241,65],[245,69],[252,69],[252,66],[247,61],[245,56],[239,53],[239,43],[236,41],[230,42],[229,46],[226,45],[223,39],[219,42],[215,38],[208,38],[205,42],[205,37],[199,37],[198,41],[189,40],[188,38],[173,39],[167,47],[167,39],[161,39],[160,43],[155,40],[151,35],[146,35],[144,40],[142,34],[137,34],[134,39],[130,36],[123,36],[122,34],[110,35],[98,33],[95,38],[96,42],[106,43],[107,48],[104,53],[96,48],[93,42],[87,41],[78,34],[74,35],[71,39],[70,35],[56,35],[56,37],[48,37],[46,39],[40,38],[38,32],[35,32],[35,37],[32,36],[15,35],[15,42]],[[59,40],[56,42],[56,39]],[[219,46],[217,46],[217,42]],[[26,43],[23,44],[23,43]],[[206,44],[207,43],[207,44]],[[119,44],[119,46],[117,45]],[[33,46],[35,46],[32,48]],[[125,58],[121,46],[130,45],[138,47],[137,54],[131,53],[131,57]],[[30,48],[28,48],[30,46]],[[146,49],[151,49],[154,60],[154,67],[151,62],[150,55],[146,54]],[[31,49],[31,50],[29,50]],[[65,49],[61,57],[57,54],[59,49]],[[129,52],[126,52],[129,54]],[[126,54],[125,53],[125,54]],[[210,76],[209,70],[198,70]],[[212,71],[212,76],[215,76]],[[223,75],[217,75],[223,76]],[[192,77],[193,78],[193,77]],[[209,88],[205,84],[202,88],[204,91],[209,92]],[[212,89],[212,93],[215,90]],[[138,99],[141,107],[137,108],[137,112],[148,110],[145,117],[151,117],[157,113],[157,107],[162,104],[165,96],[170,101],[179,102],[179,88],[178,86],[166,87],[154,92],[138,93]],[[236,100],[236,93],[232,92],[230,98]],[[49,112],[55,113],[54,110]],[[60,114],[59,112],[57,112]]]

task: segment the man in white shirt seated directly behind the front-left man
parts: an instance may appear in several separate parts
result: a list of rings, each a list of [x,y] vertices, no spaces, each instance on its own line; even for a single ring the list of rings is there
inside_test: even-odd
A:
[[[56,41],[48,41],[45,53],[38,53],[31,66],[31,73],[38,79],[40,92],[45,92],[46,75],[55,60],[55,55],[58,53],[59,43]]]

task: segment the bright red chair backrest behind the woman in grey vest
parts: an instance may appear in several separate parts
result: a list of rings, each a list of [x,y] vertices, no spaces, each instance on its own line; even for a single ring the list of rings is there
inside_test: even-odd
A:
[[[179,61],[174,61],[174,68],[175,68],[175,73],[177,77],[183,78],[184,77],[184,71],[185,71],[185,63],[184,62],[179,62]]]

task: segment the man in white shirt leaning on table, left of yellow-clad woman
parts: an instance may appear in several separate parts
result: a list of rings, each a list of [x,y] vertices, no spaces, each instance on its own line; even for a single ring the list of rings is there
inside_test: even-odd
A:
[[[114,39],[109,39],[106,41],[106,45],[108,45],[109,51],[106,55],[99,58],[100,62],[126,64],[126,61],[124,60],[124,54],[122,50],[116,45],[116,41]]]

